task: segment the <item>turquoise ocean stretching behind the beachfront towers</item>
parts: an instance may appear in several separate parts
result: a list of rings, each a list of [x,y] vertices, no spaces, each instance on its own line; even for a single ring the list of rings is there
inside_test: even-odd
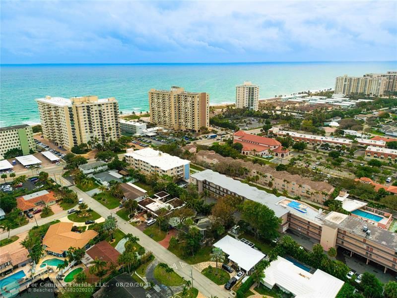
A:
[[[338,75],[396,71],[397,62],[1,65],[0,127],[38,123],[35,98],[116,97],[123,113],[147,111],[151,88],[181,86],[207,92],[211,104],[235,100],[235,86],[250,80],[260,98],[333,88]]]

